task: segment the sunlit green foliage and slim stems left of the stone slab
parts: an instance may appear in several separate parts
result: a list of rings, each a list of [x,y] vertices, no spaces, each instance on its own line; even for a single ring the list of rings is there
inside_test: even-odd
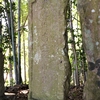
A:
[[[24,8],[27,12],[27,2],[22,0],[21,9]],[[21,10],[23,12],[23,10]],[[20,26],[20,38],[23,39],[21,41],[20,46],[22,46],[22,51],[20,51],[20,55],[22,54],[22,60],[27,60],[26,48],[27,44],[25,45],[26,41],[26,33],[27,33],[27,14],[28,13],[21,13],[21,26]],[[21,35],[24,34],[24,37]],[[11,0],[2,0],[0,1],[0,48],[3,50],[3,54],[5,57],[4,61],[4,79],[5,85],[13,85],[18,84],[19,71],[18,70],[18,1],[11,1]],[[24,49],[23,49],[24,48]],[[22,52],[22,53],[21,53]],[[26,58],[25,58],[26,57]],[[20,59],[21,61],[21,59]],[[23,61],[23,62],[24,62]],[[28,62],[28,60],[27,60]],[[24,76],[23,82],[26,83],[26,64],[23,64],[21,69],[24,68]],[[21,82],[22,83],[22,82]]]

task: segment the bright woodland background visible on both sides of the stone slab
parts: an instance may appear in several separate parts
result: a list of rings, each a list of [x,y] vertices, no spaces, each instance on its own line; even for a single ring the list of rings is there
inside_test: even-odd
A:
[[[77,0],[69,0],[66,19],[68,55],[72,70],[70,82],[72,90],[70,91],[69,98],[73,100],[73,98],[75,98],[74,95],[77,94],[75,91],[79,90],[78,93],[81,93],[82,96],[83,86],[87,75],[87,60],[83,48],[81,22],[77,11]],[[22,88],[28,89],[27,0],[0,0],[0,49],[4,55],[5,87],[15,87],[10,88],[10,90],[7,88],[6,91],[14,92],[16,86],[21,90]],[[26,84],[25,87],[22,84]],[[20,85],[22,86],[20,87]],[[79,100],[79,98],[77,100]],[[82,100],[82,97],[80,97],[80,100]]]

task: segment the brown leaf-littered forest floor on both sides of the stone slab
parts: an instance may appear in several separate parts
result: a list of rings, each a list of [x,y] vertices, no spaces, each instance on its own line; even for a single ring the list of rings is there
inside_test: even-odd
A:
[[[28,100],[28,85],[6,87],[6,100]],[[68,100],[83,100],[83,86],[71,86]]]

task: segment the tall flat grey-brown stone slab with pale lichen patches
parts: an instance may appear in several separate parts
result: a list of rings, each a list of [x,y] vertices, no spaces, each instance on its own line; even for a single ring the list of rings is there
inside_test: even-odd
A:
[[[63,50],[65,1],[29,2],[29,100],[67,100],[70,64]]]

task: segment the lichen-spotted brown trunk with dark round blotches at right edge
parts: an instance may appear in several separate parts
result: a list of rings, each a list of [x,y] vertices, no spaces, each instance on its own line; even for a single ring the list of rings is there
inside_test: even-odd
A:
[[[88,62],[84,100],[100,100],[100,0],[79,0],[78,10]]]

